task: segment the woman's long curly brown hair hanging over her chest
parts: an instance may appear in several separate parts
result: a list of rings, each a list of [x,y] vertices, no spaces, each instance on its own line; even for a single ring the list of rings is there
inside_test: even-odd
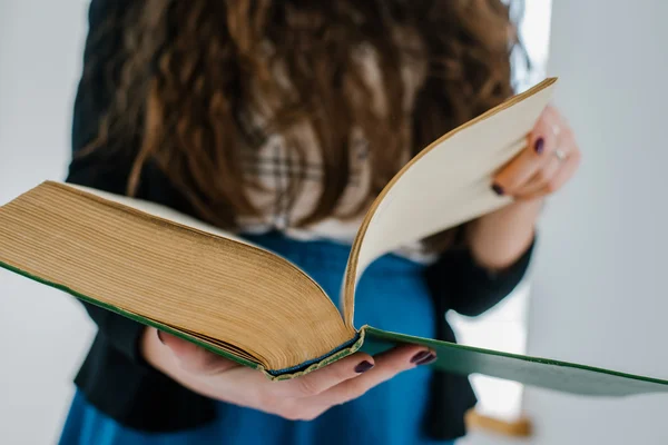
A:
[[[513,93],[518,37],[501,0],[136,0],[98,32],[112,27],[122,28],[122,50],[91,58],[82,79],[105,70],[115,91],[86,151],[134,147],[128,195],[155,162],[203,219],[222,227],[262,211],[240,162],[263,135],[285,136],[295,164],[304,147],[292,130],[316,135],[323,192],[299,221],[307,225],[332,216],[344,192],[354,127],[369,141],[371,200],[402,154]],[[356,61],[362,46],[377,55],[381,110]],[[410,101],[406,66],[423,71]],[[293,180],[291,194],[302,186]]]

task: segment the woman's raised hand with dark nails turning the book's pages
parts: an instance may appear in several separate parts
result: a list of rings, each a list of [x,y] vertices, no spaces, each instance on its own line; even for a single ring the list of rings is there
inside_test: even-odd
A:
[[[494,177],[499,195],[532,200],[559,190],[580,165],[571,128],[553,107],[547,107],[529,136],[528,147]]]

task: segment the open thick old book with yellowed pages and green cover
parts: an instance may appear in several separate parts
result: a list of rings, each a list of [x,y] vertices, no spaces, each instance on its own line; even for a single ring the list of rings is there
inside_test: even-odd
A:
[[[0,207],[0,266],[272,379],[360,348],[412,343],[435,349],[432,366],[453,373],[587,395],[668,392],[668,382],[656,378],[353,323],[355,286],[375,258],[510,202],[490,189],[491,176],[525,147],[554,83],[547,79],[446,134],[392,179],[353,243],[341,313],[317,283],[274,253],[151,202],[52,181]]]

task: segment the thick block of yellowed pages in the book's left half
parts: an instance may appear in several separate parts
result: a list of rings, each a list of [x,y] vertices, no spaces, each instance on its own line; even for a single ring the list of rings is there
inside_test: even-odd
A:
[[[145,202],[149,212],[139,211],[102,195],[47,181],[0,207],[0,263],[269,370],[355,336],[323,289],[284,258],[175,222],[187,217],[167,208]]]

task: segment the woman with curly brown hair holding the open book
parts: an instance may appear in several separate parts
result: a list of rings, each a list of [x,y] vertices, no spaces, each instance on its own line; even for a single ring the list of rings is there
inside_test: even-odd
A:
[[[92,0],[89,20],[68,181],[236,230],[330,295],[387,180],[513,93],[515,39],[499,0]],[[357,313],[454,340],[444,313],[481,314],[514,288],[542,199],[579,158],[547,109],[490,184],[514,204],[380,258]],[[465,377],[429,368],[424,347],[358,353],[269,383],[86,307],[99,333],[63,444],[450,443],[475,404]]]

